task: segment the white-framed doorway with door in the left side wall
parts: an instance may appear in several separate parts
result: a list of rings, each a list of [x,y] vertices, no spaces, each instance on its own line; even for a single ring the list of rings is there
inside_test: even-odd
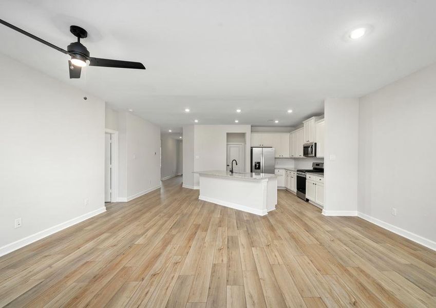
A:
[[[117,202],[118,197],[118,131],[104,134],[104,202]]]

